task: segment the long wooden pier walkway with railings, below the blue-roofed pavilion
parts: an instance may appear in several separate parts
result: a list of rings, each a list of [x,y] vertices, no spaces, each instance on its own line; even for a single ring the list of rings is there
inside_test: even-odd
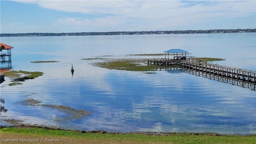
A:
[[[252,70],[196,62],[193,60],[148,60],[149,64],[166,67],[179,66],[180,70],[189,74],[256,90],[256,71]],[[170,70],[172,69],[170,68]]]

